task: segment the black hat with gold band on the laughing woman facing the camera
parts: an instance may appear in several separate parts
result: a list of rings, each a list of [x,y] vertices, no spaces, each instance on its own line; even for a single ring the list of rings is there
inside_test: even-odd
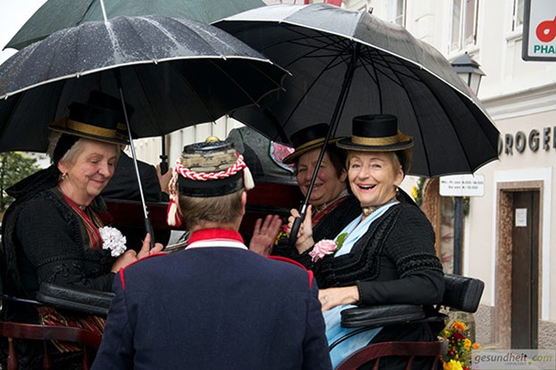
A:
[[[336,146],[359,152],[397,152],[403,172],[411,168],[413,138],[398,129],[398,119],[391,114],[367,114],[352,121],[352,133]]]

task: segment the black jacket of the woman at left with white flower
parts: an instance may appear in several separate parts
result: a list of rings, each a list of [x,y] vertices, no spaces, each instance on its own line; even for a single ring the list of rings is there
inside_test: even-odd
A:
[[[89,247],[83,221],[52,187],[55,182],[36,185],[18,189],[4,219],[6,292],[33,297],[42,282],[110,291],[110,251]]]

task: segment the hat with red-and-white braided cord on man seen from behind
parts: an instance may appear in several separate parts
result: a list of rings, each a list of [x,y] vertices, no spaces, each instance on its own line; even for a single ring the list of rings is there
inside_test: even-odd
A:
[[[209,136],[203,143],[187,145],[169,184],[168,225],[181,224],[178,195],[217,197],[253,187],[251,172],[231,143]]]

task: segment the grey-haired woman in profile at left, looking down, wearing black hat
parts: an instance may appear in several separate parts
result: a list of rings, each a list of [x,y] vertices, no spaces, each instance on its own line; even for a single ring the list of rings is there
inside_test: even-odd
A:
[[[87,103],[71,103],[69,115],[50,125],[53,165],[8,189],[16,201],[4,215],[5,293],[34,299],[44,282],[109,292],[114,273],[121,267],[162,250],[157,244],[149,251],[149,237],[138,253],[129,249],[112,257],[105,249],[99,229],[109,221],[97,195],[112,178],[120,145],[126,144],[116,128],[122,113],[113,110],[114,106],[121,107],[121,102],[100,93],[91,94]],[[96,333],[104,330],[101,317],[73,317],[54,308],[36,310],[4,303],[4,321],[87,327]],[[62,342],[54,344],[54,358],[62,361],[75,358],[66,358],[66,352],[80,350]],[[18,349],[21,364],[42,358],[42,349],[32,345],[21,344]]]

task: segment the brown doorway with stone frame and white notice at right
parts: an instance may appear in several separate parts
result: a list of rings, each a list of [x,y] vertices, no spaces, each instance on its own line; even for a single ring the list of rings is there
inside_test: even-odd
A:
[[[502,348],[538,348],[542,185],[499,184],[495,336]]]

